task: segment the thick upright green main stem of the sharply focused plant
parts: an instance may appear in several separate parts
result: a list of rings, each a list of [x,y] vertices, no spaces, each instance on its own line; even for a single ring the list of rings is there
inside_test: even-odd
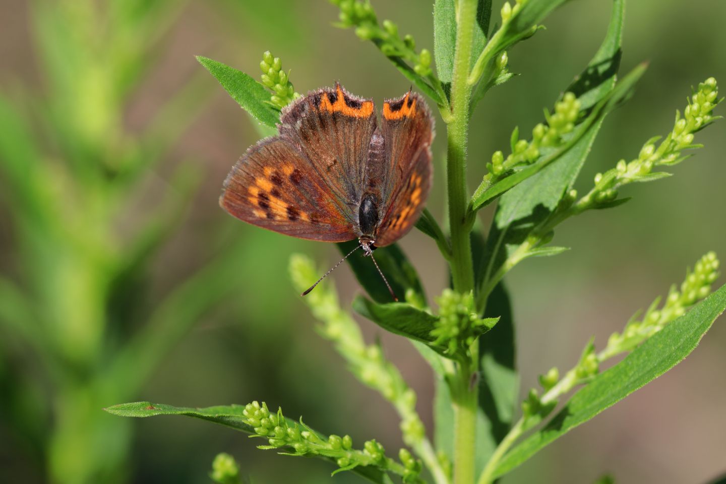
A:
[[[460,0],[456,53],[451,87],[451,116],[447,128],[446,160],[449,193],[449,229],[452,257],[449,261],[454,290],[465,294],[474,289],[473,260],[469,239],[470,224],[466,221],[468,203],[466,187],[466,149],[469,131],[471,86],[467,83],[476,19],[477,0]],[[454,400],[454,484],[473,484],[476,453],[476,385],[470,377],[478,367],[476,343],[471,360],[457,366],[453,385]]]

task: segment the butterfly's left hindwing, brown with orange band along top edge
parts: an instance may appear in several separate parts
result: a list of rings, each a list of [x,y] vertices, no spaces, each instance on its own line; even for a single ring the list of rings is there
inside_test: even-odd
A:
[[[375,106],[336,83],[310,92],[282,110],[280,136],[300,147],[310,160],[311,176],[347,205],[356,223],[365,165],[375,131]]]

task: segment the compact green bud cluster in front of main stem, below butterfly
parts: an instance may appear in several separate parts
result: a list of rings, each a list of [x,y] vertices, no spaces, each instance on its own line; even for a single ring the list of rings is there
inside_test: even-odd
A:
[[[431,329],[434,346],[446,348],[451,356],[466,356],[476,338],[492,327],[492,320],[480,319],[476,313],[473,292],[460,294],[445,289],[436,299],[439,319]]]

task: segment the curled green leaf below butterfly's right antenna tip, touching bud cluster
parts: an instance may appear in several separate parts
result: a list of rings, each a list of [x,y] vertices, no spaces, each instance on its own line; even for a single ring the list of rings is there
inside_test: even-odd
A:
[[[427,344],[434,340],[431,330],[439,318],[408,303],[378,304],[364,296],[358,296],[353,300],[353,308],[395,335]]]

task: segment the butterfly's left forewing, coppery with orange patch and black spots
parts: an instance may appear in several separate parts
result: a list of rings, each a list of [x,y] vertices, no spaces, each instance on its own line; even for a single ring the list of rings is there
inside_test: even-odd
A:
[[[354,239],[348,206],[313,165],[287,139],[264,139],[229,172],[219,205],[242,221],[281,234],[325,242]]]

